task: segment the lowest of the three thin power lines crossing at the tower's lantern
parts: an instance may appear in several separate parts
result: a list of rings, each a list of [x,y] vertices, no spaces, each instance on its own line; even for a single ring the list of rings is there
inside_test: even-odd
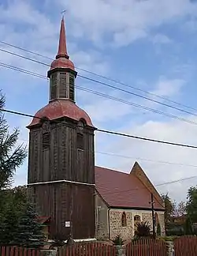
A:
[[[46,76],[44,76],[42,74],[35,73],[35,72],[29,71],[29,70],[20,69],[19,67],[16,67],[16,66],[10,66],[10,65],[8,65],[6,63],[3,63],[3,62],[0,62],[0,66],[6,67],[6,68],[11,69],[11,70],[17,70],[17,71],[20,71],[22,73],[30,74],[32,76],[35,75],[35,77],[39,77],[39,78],[43,78],[43,79],[47,79],[48,80],[48,77],[46,77]],[[177,120],[180,120],[180,121],[183,121],[183,122],[188,122],[188,123],[197,125],[197,122],[195,122],[195,121],[184,119],[184,118],[181,118],[181,117],[179,117],[177,115],[171,115],[171,114],[165,113],[163,111],[158,111],[158,110],[156,110],[154,108],[151,108],[151,107],[145,107],[145,106],[140,105],[140,104],[134,104],[134,103],[132,103],[130,101],[122,100],[121,98],[117,98],[117,97],[113,97],[113,96],[109,96],[109,95],[104,94],[102,92],[96,92],[96,91],[91,90],[89,88],[84,88],[84,87],[77,86],[77,85],[76,85],[76,88],[80,89],[80,90],[82,90],[84,92],[90,92],[90,93],[95,94],[97,96],[105,97],[105,98],[110,99],[110,100],[116,100],[116,101],[121,102],[123,104],[128,104],[128,105],[133,106],[133,107],[139,107],[139,108],[141,108],[143,110],[151,111],[151,112],[159,114],[159,115],[165,115],[165,116],[167,116],[169,118],[172,118],[172,119],[177,119]]]

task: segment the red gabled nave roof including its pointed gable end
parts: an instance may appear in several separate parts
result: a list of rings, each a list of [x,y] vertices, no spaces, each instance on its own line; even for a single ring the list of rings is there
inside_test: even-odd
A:
[[[136,174],[136,164],[132,168],[134,171],[131,171],[130,174],[95,167],[96,190],[110,207],[129,209],[151,209],[150,201],[151,193],[153,193],[154,209],[165,210],[162,199],[150,180],[146,181],[144,177],[140,179],[140,175],[144,174],[142,168],[139,167],[140,171]],[[145,175],[145,177],[147,176]]]

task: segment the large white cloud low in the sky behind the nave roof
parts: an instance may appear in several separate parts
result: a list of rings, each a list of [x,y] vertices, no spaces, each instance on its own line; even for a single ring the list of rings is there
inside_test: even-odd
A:
[[[197,121],[197,120],[194,120]],[[143,125],[128,124],[122,132],[142,137],[151,137],[162,141],[173,141],[188,145],[197,145],[196,126],[179,121],[171,122],[144,122]],[[166,183],[196,175],[196,168],[180,166],[178,164],[161,164],[157,161],[166,161],[181,164],[197,165],[196,149],[187,149],[173,145],[162,145],[154,142],[138,141],[132,138],[114,137],[108,147],[108,152],[123,156],[131,156],[126,159],[116,156],[106,156],[106,166],[122,171],[130,171],[135,158],[155,160],[149,162],[139,160],[144,171],[154,184]],[[169,195],[177,201],[184,200],[191,185],[197,184],[196,179],[189,179],[180,183],[172,183],[158,186],[160,192],[169,192]],[[181,188],[181,189],[180,189]]]

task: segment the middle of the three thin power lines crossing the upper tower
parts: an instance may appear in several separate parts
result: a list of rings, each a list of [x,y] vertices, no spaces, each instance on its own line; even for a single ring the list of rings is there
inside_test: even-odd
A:
[[[12,51],[6,51],[6,50],[1,49],[1,48],[0,48],[0,51],[5,52],[5,53],[10,54],[10,55],[14,55],[14,56],[19,57],[19,58],[24,58],[24,59],[29,60],[29,61],[32,61],[32,62],[36,62],[36,63],[38,63],[38,64],[40,64],[40,65],[50,66],[49,64],[46,64],[46,63],[44,63],[44,62],[40,62],[40,61],[35,60],[35,59],[33,59],[33,58],[25,57],[25,56],[23,56],[23,55],[18,55],[18,54],[16,54],[16,53],[12,52]],[[53,67],[53,66],[50,66],[50,67]],[[150,100],[151,102],[154,102],[154,103],[156,103],[156,104],[161,104],[162,106],[170,107],[170,108],[172,108],[172,109],[175,109],[175,110],[177,110],[177,111],[184,112],[184,113],[189,114],[189,115],[195,115],[195,116],[197,116],[196,114],[194,114],[194,113],[192,113],[192,112],[190,112],[190,111],[184,111],[183,109],[181,109],[181,108],[179,108],[179,107],[173,107],[172,105],[164,104],[164,103],[162,103],[162,102],[160,102],[160,101],[158,101],[158,100],[153,100],[153,99],[148,98],[148,97],[146,97],[146,96],[141,96],[141,95],[136,94],[136,93],[134,93],[134,92],[129,92],[129,91],[125,90],[125,89],[118,88],[118,87],[116,87],[116,86],[103,83],[102,81],[97,81],[97,80],[92,79],[92,78],[90,78],[90,77],[84,77],[84,76],[82,76],[82,75],[80,75],[80,74],[78,74],[78,77],[87,79],[87,80],[89,80],[89,81],[93,81],[93,82],[99,83],[100,85],[108,86],[108,87],[110,87],[110,88],[119,90],[119,91],[121,91],[121,92],[128,93],[128,94],[130,94],[130,95],[132,95],[132,96],[140,97],[140,98],[142,98],[142,99],[144,99],[144,100]]]

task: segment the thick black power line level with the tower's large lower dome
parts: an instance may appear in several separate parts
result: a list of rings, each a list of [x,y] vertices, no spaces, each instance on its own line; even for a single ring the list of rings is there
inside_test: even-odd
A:
[[[29,115],[29,114],[21,113],[18,111],[10,111],[7,109],[0,109],[0,111],[6,112],[9,114],[13,114],[13,115],[21,115],[21,116],[32,117],[35,119],[40,119],[40,120],[47,120],[44,118],[37,117],[35,115]],[[184,147],[184,148],[197,149],[197,146],[195,146],[195,145],[187,145],[187,144],[175,143],[175,142],[170,142],[170,141],[160,141],[160,140],[155,140],[155,139],[151,139],[148,137],[139,137],[139,136],[135,136],[135,135],[131,135],[131,134],[118,133],[118,132],[111,131],[111,130],[96,129],[96,131],[99,131],[99,132],[105,133],[105,134],[118,135],[121,137],[130,137],[130,138],[134,138],[136,140],[141,140],[141,141],[151,141],[151,142],[156,142],[156,143],[165,144],[165,145],[176,145],[176,146],[180,146],[180,147]]]

